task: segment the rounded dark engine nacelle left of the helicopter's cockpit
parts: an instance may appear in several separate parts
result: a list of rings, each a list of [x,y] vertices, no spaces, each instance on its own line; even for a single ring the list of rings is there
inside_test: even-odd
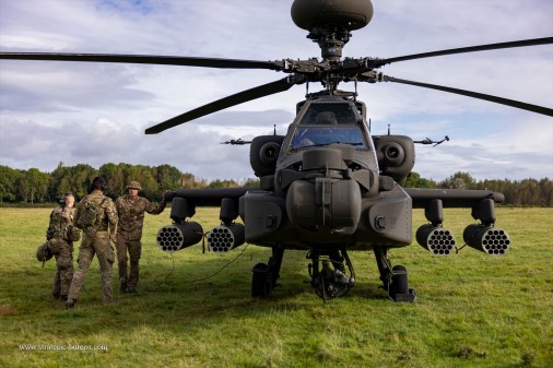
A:
[[[257,177],[274,175],[284,135],[260,135],[251,141],[249,163]]]

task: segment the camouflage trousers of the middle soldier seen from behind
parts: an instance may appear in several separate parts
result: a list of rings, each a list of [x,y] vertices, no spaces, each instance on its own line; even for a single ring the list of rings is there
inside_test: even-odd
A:
[[[97,232],[91,237],[83,234],[81,247],[79,248],[79,258],[77,262],[79,268],[73,274],[73,281],[69,288],[68,298],[78,300],[79,294],[84,283],[86,272],[94,259],[94,254],[98,258],[99,275],[102,278],[102,300],[104,304],[113,301],[114,295],[111,290],[111,272],[114,269],[114,249],[109,242],[109,234],[107,232]]]

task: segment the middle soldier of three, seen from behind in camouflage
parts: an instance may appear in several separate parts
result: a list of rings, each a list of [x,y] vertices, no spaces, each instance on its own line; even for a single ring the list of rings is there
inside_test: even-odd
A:
[[[92,192],[85,195],[77,206],[74,224],[82,228],[84,234],[79,249],[79,269],[73,275],[66,308],[75,306],[94,254],[98,257],[103,302],[113,301],[111,272],[115,257],[109,241],[116,241],[115,232],[118,217],[114,201],[104,195],[106,186],[107,182],[104,178],[94,178]]]

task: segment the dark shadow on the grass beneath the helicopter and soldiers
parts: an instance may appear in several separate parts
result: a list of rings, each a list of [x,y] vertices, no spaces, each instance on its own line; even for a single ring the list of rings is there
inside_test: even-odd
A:
[[[125,330],[140,324],[169,328],[172,324],[210,324],[220,318],[291,312],[309,308],[334,308],[339,299],[323,302],[309,283],[307,269],[293,256],[283,263],[279,286],[266,299],[251,298],[251,260],[242,260],[224,272],[215,274],[227,262],[221,259],[195,260],[188,264],[144,262],[138,294],[119,294],[114,266],[114,297],[110,305],[102,305],[97,262],[86,274],[84,287],[74,309],[66,310],[62,302],[51,299],[54,264],[45,269],[32,264],[4,275],[8,286],[0,305],[3,316],[22,322],[43,324],[55,334],[98,333]],[[251,263],[251,264],[250,264]],[[4,278],[1,277],[1,278]],[[25,281],[9,283],[9,280]],[[386,293],[375,283],[357,283],[340,299],[387,300]],[[350,299],[351,300],[351,299]],[[38,322],[37,322],[38,321]],[[36,325],[38,328],[38,325]]]

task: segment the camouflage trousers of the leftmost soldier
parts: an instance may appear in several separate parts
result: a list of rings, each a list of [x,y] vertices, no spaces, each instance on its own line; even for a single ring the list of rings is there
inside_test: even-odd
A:
[[[56,275],[51,295],[54,298],[66,298],[73,278],[73,244],[62,239],[50,239],[48,248],[56,257]]]

